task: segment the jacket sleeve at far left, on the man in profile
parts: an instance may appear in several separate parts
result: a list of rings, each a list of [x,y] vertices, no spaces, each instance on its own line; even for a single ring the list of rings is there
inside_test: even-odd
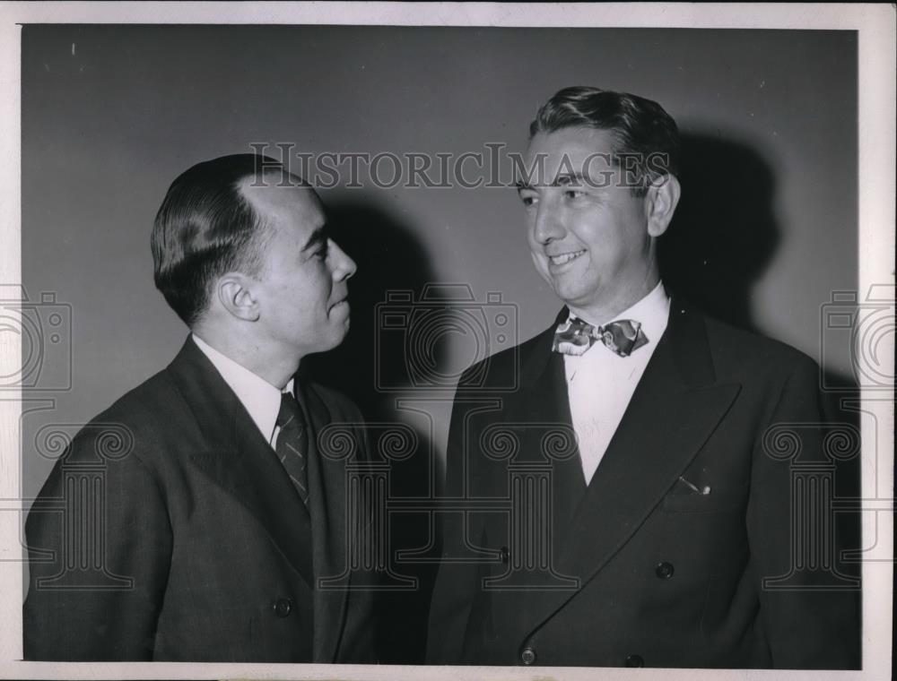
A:
[[[101,459],[98,446],[96,435],[75,437],[26,522],[25,659],[152,659],[170,565],[168,513],[135,453]]]

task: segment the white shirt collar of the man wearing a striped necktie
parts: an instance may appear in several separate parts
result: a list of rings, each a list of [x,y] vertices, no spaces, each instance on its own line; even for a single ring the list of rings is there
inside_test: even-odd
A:
[[[245,366],[237,364],[226,355],[214,349],[205,340],[192,334],[196,347],[203,351],[205,357],[218,369],[224,382],[231,386],[237,399],[248,411],[249,417],[258,427],[259,432],[271,444],[277,443],[277,414],[280,412],[281,392],[291,392],[293,379],[286,384],[283,391],[269,384],[261,376],[253,374]]]

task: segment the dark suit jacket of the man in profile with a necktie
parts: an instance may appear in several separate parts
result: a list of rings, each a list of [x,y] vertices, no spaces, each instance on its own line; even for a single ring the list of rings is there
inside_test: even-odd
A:
[[[25,658],[375,661],[370,592],[313,588],[344,572],[350,539],[345,461],[320,456],[314,435],[361,415],[316,384],[300,402],[310,517],[192,340],[83,428],[26,523]]]

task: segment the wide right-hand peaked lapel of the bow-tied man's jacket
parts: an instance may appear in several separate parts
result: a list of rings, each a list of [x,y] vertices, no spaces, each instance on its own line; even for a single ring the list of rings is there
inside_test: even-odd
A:
[[[562,362],[555,364],[546,361],[546,369],[562,373]],[[555,549],[558,572],[577,577],[581,588],[638,530],[735,400],[740,386],[715,380],[702,316],[674,301],[666,332]],[[523,626],[531,630],[574,595],[534,592]]]

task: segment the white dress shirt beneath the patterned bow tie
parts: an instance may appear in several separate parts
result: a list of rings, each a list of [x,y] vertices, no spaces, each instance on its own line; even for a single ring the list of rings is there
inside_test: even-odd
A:
[[[564,355],[570,416],[579,441],[579,456],[587,485],[623,420],[623,412],[629,406],[635,386],[639,384],[651,355],[658,347],[669,313],[670,299],[661,282],[635,305],[615,315],[614,319],[583,320],[597,325],[622,319],[640,322],[641,331],[648,338],[646,345],[623,358],[596,340],[583,355]],[[646,427],[649,425],[646,424]]]

